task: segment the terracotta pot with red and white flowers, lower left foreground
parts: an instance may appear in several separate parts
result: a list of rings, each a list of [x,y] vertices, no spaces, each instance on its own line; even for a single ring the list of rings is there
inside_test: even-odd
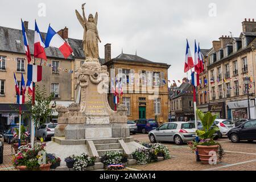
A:
[[[44,147],[46,144],[35,144],[34,148],[31,144],[26,146],[20,146],[17,154],[13,157],[13,165],[19,171],[49,171],[51,166],[51,160],[46,157],[46,163],[42,162],[43,156],[39,155],[39,152],[45,152]],[[46,153],[45,153],[46,154]]]

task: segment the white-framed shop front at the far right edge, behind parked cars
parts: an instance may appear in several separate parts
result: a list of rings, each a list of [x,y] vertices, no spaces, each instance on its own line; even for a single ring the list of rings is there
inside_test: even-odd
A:
[[[251,119],[254,119],[255,118],[254,101],[250,100],[249,103],[250,103],[250,116],[251,116]],[[226,105],[228,107],[229,119],[232,119],[232,121],[249,118],[247,100],[228,102]]]

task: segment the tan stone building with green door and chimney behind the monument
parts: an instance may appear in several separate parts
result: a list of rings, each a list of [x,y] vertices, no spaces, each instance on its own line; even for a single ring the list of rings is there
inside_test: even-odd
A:
[[[105,63],[110,80],[122,80],[123,96],[119,103],[127,106],[127,118],[154,119],[168,122],[168,68],[165,63],[155,63],[137,55],[111,58],[111,45],[105,46]],[[111,88],[111,85],[110,85]],[[158,89],[156,89],[158,88]],[[109,104],[114,109],[114,94],[109,94]]]

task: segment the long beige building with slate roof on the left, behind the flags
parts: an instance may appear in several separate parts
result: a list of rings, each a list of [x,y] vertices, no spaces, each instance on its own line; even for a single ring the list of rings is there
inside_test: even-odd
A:
[[[28,22],[24,22],[26,27],[28,44],[34,63],[34,30],[28,29]],[[82,40],[68,38],[68,28],[58,32],[64,40],[70,44],[73,49],[73,55],[68,59],[64,59],[63,55],[57,48],[46,48],[47,62],[43,61],[43,76],[42,81],[36,83],[39,86],[46,86],[47,94],[54,92],[55,98],[53,102],[57,105],[68,106],[75,99],[74,91],[74,72],[69,73],[68,70],[75,69],[75,61],[85,59],[82,51]],[[42,32],[43,38],[46,33]],[[40,64],[40,60],[35,60],[36,64]],[[44,64],[45,63],[45,64]],[[54,65],[54,68],[47,67],[46,64]],[[13,73],[20,84],[21,73],[24,80],[27,82],[27,60],[23,46],[22,30],[7,28],[0,26],[0,130],[6,129],[12,122],[18,122],[18,113],[15,109],[16,93]],[[61,70],[59,69],[61,68]],[[64,71],[63,71],[64,69]],[[27,101],[27,97],[26,97]],[[28,111],[23,107],[23,111]],[[53,113],[53,118],[57,117],[57,113]],[[23,118],[24,125],[29,124],[30,119]]]

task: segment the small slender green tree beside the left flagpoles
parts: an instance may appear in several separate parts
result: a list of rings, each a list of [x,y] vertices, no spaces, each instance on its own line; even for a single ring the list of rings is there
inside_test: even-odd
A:
[[[39,87],[36,85],[35,88],[35,105],[32,106],[32,96],[28,94],[29,101],[26,103],[28,110],[30,110],[31,117],[38,127],[40,124],[45,123],[47,118],[52,115],[54,109],[50,106],[53,99],[53,93],[47,94],[46,86]],[[35,135],[37,131],[35,130]]]

